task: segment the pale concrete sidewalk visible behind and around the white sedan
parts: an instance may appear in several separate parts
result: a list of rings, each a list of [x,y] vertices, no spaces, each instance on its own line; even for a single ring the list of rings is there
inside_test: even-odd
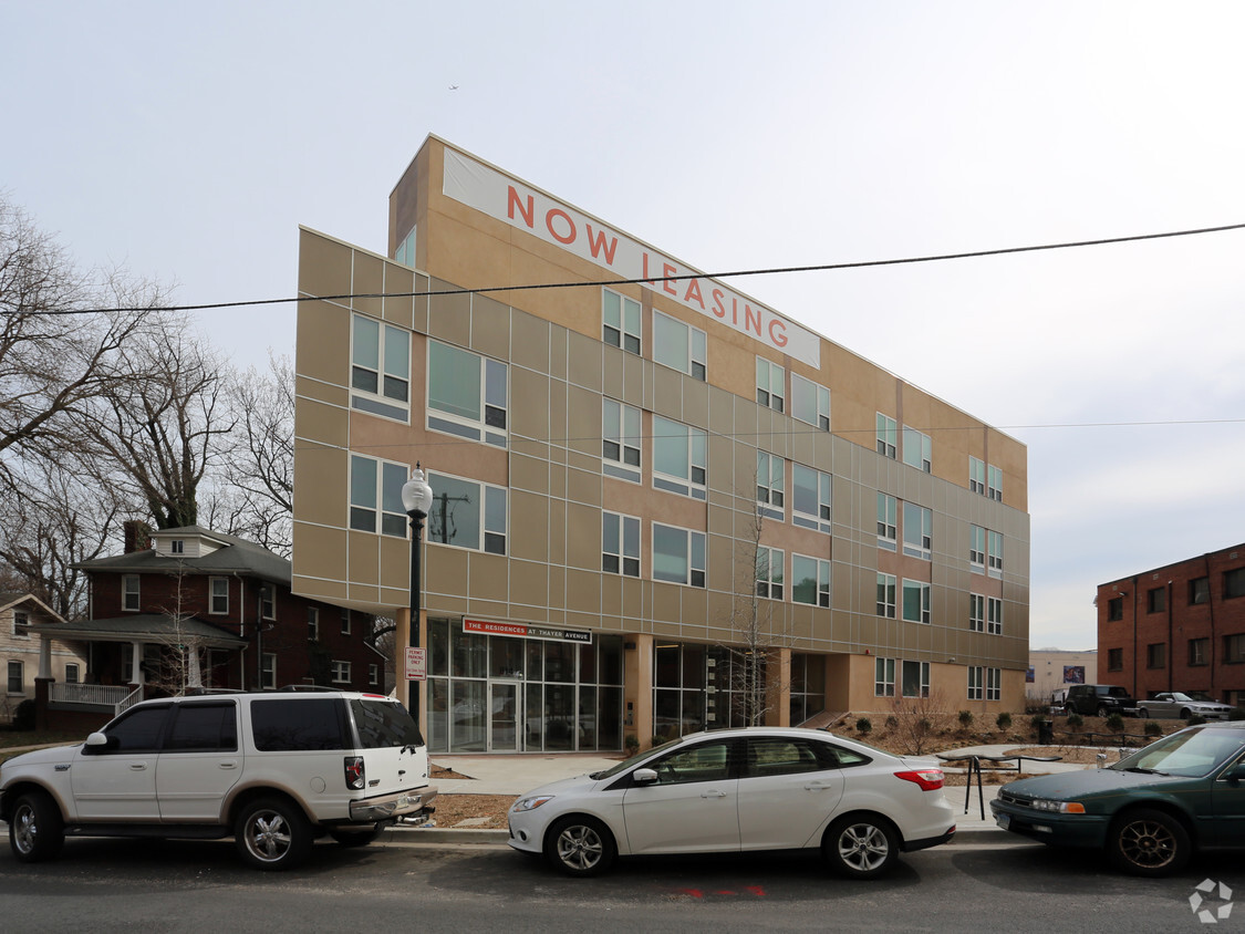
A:
[[[1000,746],[971,746],[960,750],[951,750],[942,755],[972,755],[972,756],[1001,756],[1016,748],[1016,743]],[[469,778],[446,780],[437,778],[438,795],[513,795],[518,797],[548,782],[559,778],[570,778],[578,775],[596,772],[610,768],[619,763],[619,758],[606,758],[593,755],[545,755],[528,753],[515,756],[442,756],[432,757],[435,765],[442,768],[452,768],[454,772]],[[1113,761],[1113,760],[1112,760]],[[1023,776],[1048,775],[1053,772],[1074,772],[1083,768],[1093,768],[1089,765],[1072,762],[1025,762]],[[967,762],[960,765],[955,762],[942,762],[946,772],[962,772],[967,770]],[[1018,776],[1017,776],[1018,777]],[[955,808],[956,836],[951,846],[980,844],[980,843],[1021,843],[1023,842],[1015,833],[1007,833],[995,826],[990,813],[990,802],[998,793],[1000,786],[982,785],[979,798],[977,786],[974,782],[971,790],[964,786],[944,788],[942,793]],[[967,800],[967,804],[966,804]],[[982,816],[982,808],[985,816]],[[508,838],[507,831],[473,831],[452,827],[402,827],[403,834],[417,834],[418,839],[428,843],[493,843],[504,844]]]

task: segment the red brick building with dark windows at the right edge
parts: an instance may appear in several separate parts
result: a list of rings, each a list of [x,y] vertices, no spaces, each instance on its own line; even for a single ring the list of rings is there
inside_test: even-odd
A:
[[[1098,585],[1098,681],[1245,706],[1245,544]]]

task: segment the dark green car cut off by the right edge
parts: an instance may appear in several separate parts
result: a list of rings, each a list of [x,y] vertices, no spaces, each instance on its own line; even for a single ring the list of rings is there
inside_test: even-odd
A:
[[[990,809],[1005,831],[1169,875],[1199,849],[1245,849],[1243,760],[1245,722],[1190,726],[1107,768],[1010,782]]]

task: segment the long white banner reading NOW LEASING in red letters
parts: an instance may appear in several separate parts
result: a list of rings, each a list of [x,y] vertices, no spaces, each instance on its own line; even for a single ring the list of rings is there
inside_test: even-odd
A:
[[[595,263],[619,279],[642,279],[647,288],[665,293],[685,308],[820,367],[822,342],[812,331],[570,205],[448,148],[443,192],[491,218]],[[691,278],[662,281],[669,276]]]

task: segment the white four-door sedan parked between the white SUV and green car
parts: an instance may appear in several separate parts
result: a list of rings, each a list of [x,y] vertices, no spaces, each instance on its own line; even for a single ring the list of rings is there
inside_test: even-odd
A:
[[[748,727],[674,740],[553,782],[510,807],[509,843],[570,875],[619,856],[820,851],[845,875],[946,843],[942,771],[820,730]]]

